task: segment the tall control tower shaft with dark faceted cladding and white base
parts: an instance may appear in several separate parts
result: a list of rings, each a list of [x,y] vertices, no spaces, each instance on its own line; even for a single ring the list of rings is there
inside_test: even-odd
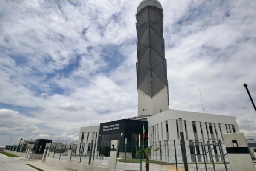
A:
[[[161,3],[142,1],[136,20],[138,116],[154,115],[169,109]]]

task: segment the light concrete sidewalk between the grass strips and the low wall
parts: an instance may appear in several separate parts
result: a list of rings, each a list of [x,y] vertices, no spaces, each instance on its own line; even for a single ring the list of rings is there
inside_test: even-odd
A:
[[[65,169],[61,169],[61,168],[54,167],[52,165],[48,165],[44,162],[41,162],[41,160],[20,160],[20,157],[14,157],[13,159],[19,160],[20,163],[23,163],[25,165],[26,164],[33,165],[33,166],[40,168],[44,171],[67,171]]]

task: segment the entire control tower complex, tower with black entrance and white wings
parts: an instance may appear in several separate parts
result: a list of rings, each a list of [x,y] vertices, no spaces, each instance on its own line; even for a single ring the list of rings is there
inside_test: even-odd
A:
[[[224,133],[239,132],[236,118],[169,109],[161,4],[158,1],[142,1],[137,8],[136,20],[138,114],[134,118],[101,123],[100,126],[81,127],[78,151],[89,154],[92,150],[90,141],[94,138],[97,153],[108,156],[110,141],[119,140],[119,158],[123,158],[122,148],[124,138],[127,138],[133,146],[128,151],[132,158],[136,158],[134,154],[138,151],[138,143],[143,144],[142,138],[139,140],[136,137],[142,130],[139,121],[143,121],[146,127],[145,136],[148,140],[144,146],[160,147],[159,151],[151,153],[152,160],[172,163],[170,156],[177,152],[178,162],[183,162],[180,146],[180,128],[182,128],[186,151],[188,151],[188,162],[195,162],[195,152],[203,154],[207,148],[208,152],[209,149],[214,149],[210,151],[215,154],[215,157],[206,156],[206,161],[221,162],[222,158],[219,157],[221,149],[219,148],[224,148],[224,145],[218,145],[218,142],[221,141]],[[182,119],[181,122],[179,118]],[[96,133],[94,135],[96,137],[92,137],[93,132]],[[173,144],[175,141],[179,143],[177,146]],[[81,144],[84,144],[84,149],[81,149]],[[204,146],[204,151],[199,148],[199,144],[207,145]],[[202,160],[202,157],[198,155],[197,161]]]

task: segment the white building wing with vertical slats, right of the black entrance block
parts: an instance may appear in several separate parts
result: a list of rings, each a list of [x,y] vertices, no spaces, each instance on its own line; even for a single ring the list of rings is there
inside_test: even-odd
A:
[[[179,122],[182,118],[182,122]],[[152,160],[161,160],[172,162],[169,156],[174,156],[177,153],[178,162],[183,162],[180,146],[180,129],[182,127],[185,139],[185,146],[206,145],[205,151],[212,150],[212,155],[219,155],[213,159],[206,155],[206,161],[221,162],[221,148],[225,149],[224,144],[219,144],[222,141],[222,134],[239,132],[239,127],[236,122],[236,117],[213,115],[198,112],[187,112],[180,110],[169,109],[165,112],[147,118],[148,120],[148,137],[150,146],[161,147],[161,150],[151,154]],[[175,148],[173,141],[176,141]],[[210,145],[208,145],[210,144]],[[215,145],[214,145],[215,144]],[[216,147],[215,147],[216,146]],[[221,146],[221,147],[220,147]],[[195,149],[194,149],[195,150]],[[196,148],[187,148],[188,162],[195,162],[194,154],[203,154],[201,146]],[[209,152],[208,152],[209,154]],[[203,162],[203,156],[197,156],[198,162]]]

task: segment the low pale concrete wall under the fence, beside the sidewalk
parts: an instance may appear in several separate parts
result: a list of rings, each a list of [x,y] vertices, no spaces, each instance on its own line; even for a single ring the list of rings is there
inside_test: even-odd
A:
[[[58,160],[49,157],[47,157],[45,163],[68,171],[108,171],[108,168],[103,168],[101,166],[87,165],[76,162],[67,162],[65,160]],[[121,170],[116,169],[115,171]]]

